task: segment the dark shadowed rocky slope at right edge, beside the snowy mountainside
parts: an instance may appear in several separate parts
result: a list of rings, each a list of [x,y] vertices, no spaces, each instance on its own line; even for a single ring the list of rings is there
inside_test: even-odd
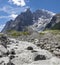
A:
[[[46,28],[60,29],[60,14],[53,16],[51,22],[47,24]]]

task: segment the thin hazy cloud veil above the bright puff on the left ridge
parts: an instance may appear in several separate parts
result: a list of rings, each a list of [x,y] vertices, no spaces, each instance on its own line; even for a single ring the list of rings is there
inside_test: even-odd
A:
[[[20,14],[21,12],[23,12],[28,6],[25,7],[12,7],[9,5],[5,5],[3,7],[0,8],[0,11],[5,12],[9,15],[11,14]]]

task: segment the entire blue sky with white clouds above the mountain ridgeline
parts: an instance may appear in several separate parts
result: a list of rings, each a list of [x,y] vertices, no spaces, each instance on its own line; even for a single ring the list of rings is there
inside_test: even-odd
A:
[[[0,30],[10,19],[15,19],[18,14],[27,8],[32,11],[46,9],[60,13],[60,0],[0,0]]]

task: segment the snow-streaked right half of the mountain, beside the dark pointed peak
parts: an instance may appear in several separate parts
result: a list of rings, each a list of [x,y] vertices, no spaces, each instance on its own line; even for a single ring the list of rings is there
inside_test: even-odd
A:
[[[55,13],[48,10],[36,10],[34,13],[34,24],[32,25],[33,30],[41,32],[45,29],[46,25],[50,23]]]

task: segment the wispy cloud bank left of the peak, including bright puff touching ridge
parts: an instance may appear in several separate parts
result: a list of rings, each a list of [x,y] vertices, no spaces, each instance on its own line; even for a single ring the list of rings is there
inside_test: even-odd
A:
[[[27,8],[28,6],[14,8],[12,6],[5,5],[0,8],[0,12],[5,12],[6,15],[1,15],[0,19],[6,19],[6,20],[13,19],[14,20],[18,16],[18,14],[26,11]]]

